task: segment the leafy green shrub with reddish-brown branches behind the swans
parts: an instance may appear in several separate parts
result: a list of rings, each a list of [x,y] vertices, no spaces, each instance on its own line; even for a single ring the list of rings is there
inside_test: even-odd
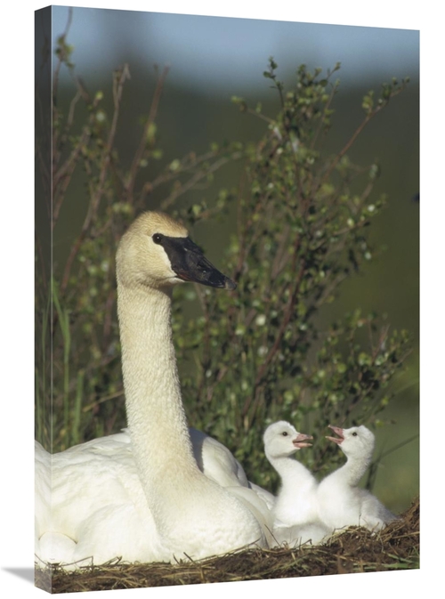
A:
[[[287,90],[271,59],[264,76],[279,94],[279,113],[269,117],[260,105],[250,109],[234,98],[247,117],[262,120],[260,142],[211,144],[202,156],[191,152],[159,166],[148,181],[142,169],[156,170],[162,158],[156,117],[166,70],[158,74],[134,156],[124,161],[116,137],[128,67],[113,74],[108,104],[105,93],[89,93],[77,77],[71,50],[61,36],[53,77],[52,178],[40,169],[46,188],[53,189],[53,233],[70,186],[83,189],[88,201],[66,255],[54,248],[52,273],[44,271],[36,239],[36,438],[61,450],[125,426],[114,255],[125,227],[161,185],[161,209],[188,226],[231,218],[236,231],[218,264],[237,281],[234,292],[175,290],[174,339],[190,425],[223,441],[247,474],[266,485],[275,482],[263,467],[263,430],[272,421],[288,419],[305,433],[323,432],[329,423],[378,425],[392,398],[389,383],[409,352],[408,335],[360,311],[321,330],[320,309],[373,259],[369,226],[385,202],[373,193],[379,169],[353,165],[348,151],[407,81],[384,85],[377,100],[368,93],[362,122],[328,156],[324,142],[339,65],[326,76],[302,65]],[[65,108],[58,102],[62,68],[76,85]],[[245,161],[240,190],[220,190],[212,205],[179,204],[186,191],[239,158]],[[82,206],[79,200],[79,211]],[[195,303],[191,316],[183,311],[185,300]],[[323,473],[339,453],[315,443],[304,459]]]

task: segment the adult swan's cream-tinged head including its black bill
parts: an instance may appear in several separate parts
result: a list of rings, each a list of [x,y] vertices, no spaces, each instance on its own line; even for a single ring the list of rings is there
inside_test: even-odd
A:
[[[145,212],[125,232],[117,248],[117,280],[128,287],[170,287],[195,281],[234,289],[191,241],[182,224],[160,212]]]

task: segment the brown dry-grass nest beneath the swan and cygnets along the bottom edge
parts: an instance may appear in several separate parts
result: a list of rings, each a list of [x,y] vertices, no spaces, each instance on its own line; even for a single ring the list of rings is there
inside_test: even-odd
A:
[[[176,564],[115,560],[71,572],[57,566],[36,567],[36,587],[69,593],[415,569],[419,567],[419,509],[417,498],[400,521],[383,531],[372,535],[352,527],[321,546],[247,549]]]

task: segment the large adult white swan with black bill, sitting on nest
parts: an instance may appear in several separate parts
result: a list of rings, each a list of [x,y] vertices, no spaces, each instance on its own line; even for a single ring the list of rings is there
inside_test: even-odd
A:
[[[172,288],[183,280],[235,287],[182,225],[141,215],[117,250],[128,432],[53,456],[36,445],[44,562],[172,561],[268,546],[271,513],[242,467],[218,441],[198,432],[190,440],[170,323]]]

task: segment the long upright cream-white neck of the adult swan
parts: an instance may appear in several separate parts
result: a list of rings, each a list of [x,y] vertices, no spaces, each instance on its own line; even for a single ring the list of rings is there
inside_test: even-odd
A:
[[[157,520],[201,473],[193,457],[171,328],[171,291],[117,285],[128,427]]]

